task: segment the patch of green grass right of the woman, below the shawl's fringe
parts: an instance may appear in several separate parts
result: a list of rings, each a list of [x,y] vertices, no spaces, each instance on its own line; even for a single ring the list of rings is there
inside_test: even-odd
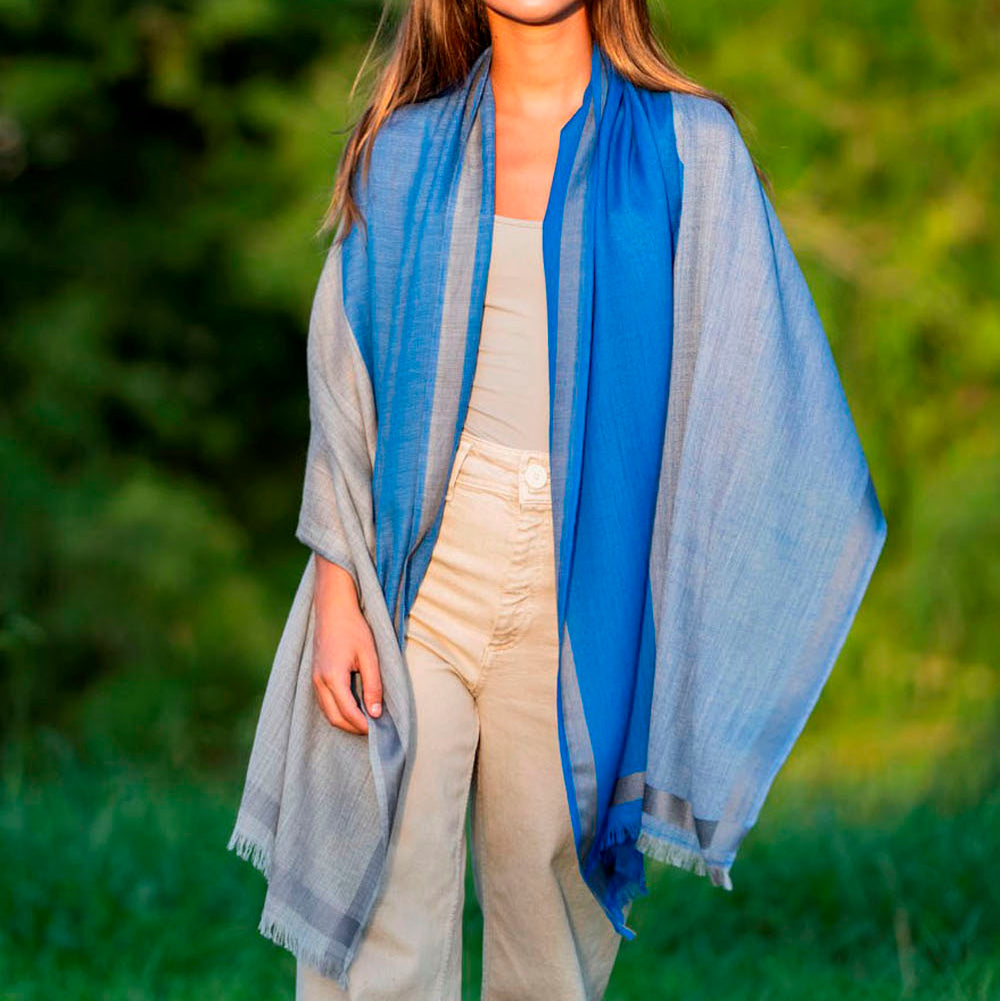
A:
[[[732,895],[657,867],[608,1001],[996,998],[998,832],[997,795],[868,827],[828,804],[752,835]]]

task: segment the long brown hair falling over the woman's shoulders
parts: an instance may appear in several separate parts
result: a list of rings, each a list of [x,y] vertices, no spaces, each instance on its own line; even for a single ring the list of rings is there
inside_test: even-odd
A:
[[[350,95],[367,66],[393,6],[385,0],[374,37],[354,78]],[[677,90],[718,101],[733,116],[733,106],[721,94],[686,76],[653,31],[648,0],[586,0],[591,34],[626,79],[650,90]],[[344,145],[333,195],[318,235],[340,225],[345,236],[361,212],[352,182],[358,169],[370,165],[371,144],[378,129],[400,105],[421,101],[464,79],[472,63],[490,44],[483,0],[409,0],[378,73],[367,106]],[[770,183],[754,164],[758,175]]]

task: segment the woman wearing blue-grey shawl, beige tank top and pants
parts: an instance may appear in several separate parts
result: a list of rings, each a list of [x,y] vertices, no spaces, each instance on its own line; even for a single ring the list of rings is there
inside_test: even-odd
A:
[[[645,0],[412,0],[328,221],[229,847],[300,999],[456,999],[468,808],[482,997],[601,998],[646,855],[732,889],[881,552],[829,345]]]

